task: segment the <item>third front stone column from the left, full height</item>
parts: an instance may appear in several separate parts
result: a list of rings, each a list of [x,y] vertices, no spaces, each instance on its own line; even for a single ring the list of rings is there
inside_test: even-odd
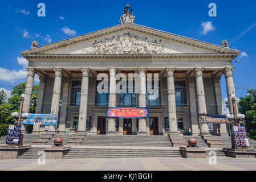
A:
[[[88,104],[88,85],[89,85],[89,68],[82,68],[83,73],[80,106],[79,106],[79,121],[78,133],[86,133],[86,119],[87,119],[87,104]]]

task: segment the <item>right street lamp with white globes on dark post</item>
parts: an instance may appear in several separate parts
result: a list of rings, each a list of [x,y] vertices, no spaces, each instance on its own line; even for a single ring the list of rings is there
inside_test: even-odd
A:
[[[245,115],[244,114],[237,114],[237,104],[235,103],[235,95],[231,95],[231,101],[233,105],[233,113],[234,114],[227,114],[226,117],[229,119],[229,121],[234,121],[235,126],[239,126],[239,122],[243,122],[245,120]],[[235,149],[235,139],[234,139],[234,129],[232,128],[232,133],[231,133],[231,146],[232,148]]]

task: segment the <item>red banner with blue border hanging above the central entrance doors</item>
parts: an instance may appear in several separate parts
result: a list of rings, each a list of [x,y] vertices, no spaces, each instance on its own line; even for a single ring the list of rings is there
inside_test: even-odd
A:
[[[107,118],[148,118],[148,107],[107,107]]]

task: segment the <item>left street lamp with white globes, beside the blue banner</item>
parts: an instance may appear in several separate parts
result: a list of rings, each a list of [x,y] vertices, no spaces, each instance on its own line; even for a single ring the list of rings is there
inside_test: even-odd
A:
[[[21,94],[21,104],[19,106],[19,113],[17,112],[11,113],[11,116],[13,117],[13,119],[17,121],[17,125],[21,125],[21,121],[29,117],[29,113],[22,113],[24,100],[25,100],[25,94]],[[22,146],[22,145],[23,145],[23,134],[21,132],[21,134],[19,135],[18,146]]]

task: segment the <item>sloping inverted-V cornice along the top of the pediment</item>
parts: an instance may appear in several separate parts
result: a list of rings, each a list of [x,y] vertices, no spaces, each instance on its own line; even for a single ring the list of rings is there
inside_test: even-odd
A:
[[[59,42],[47,44],[45,46],[36,47],[34,49],[29,49],[27,51],[21,52],[21,54],[23,56],[27,55],[27,54],[40,54],[40,53],[43,53],[46,51],[51,51],[54,49],[67,47],[69,45],[85,42],[88,40],[92,40],[92,42],[93,42],[95,39],[99,39],[100,36],[118,33],[118,32],[125,31],[125,30],[127,30],[127,31],[131,30],[131,31],[135,31],[138,33],[146,34],[148,36],[154,36],[155,38],[159,38],[162,40],[164,40],[164,39],[171,40],[171,41],[174,41],[177,43],[181,43],[181,44],[185,44],[185,45],[193,46],[193,47],[197,47],[197,48],[207,49],[209,51],[214,51],[214,52],[218,52],[218,53],[236,53],[237,55],[240,53],[240,51],[235,50],[235,49],[217,46],[215,44],[202,42],[200,40],[196,40],[196,39],[192,39],[192,38],[186,38],[184,36],[172,34],[172,33],[165,32],[165,31],[156,30],[153,28],[141,26],[139,24],[123,23],[123,24],[119,24],[119,25],[112,26],[109,28],[104,28],[102,30],[94,31],[94,32],[91,32],[88,34],[76,36],[74,38],[61,40]]]

